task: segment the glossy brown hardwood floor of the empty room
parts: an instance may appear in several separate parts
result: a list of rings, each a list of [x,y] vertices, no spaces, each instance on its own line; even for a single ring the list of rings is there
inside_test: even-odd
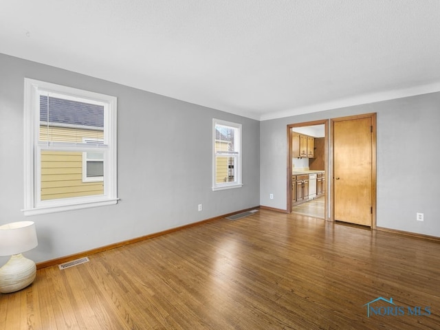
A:
[[[440,329],[435,241],[260,210],[89,259],[0,294],[0,329]]]

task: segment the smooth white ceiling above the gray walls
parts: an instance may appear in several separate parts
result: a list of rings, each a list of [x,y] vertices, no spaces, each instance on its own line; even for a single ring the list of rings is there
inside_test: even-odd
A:
[[[267,120],[440,91],[440,1],[0,0],[0,52]]]

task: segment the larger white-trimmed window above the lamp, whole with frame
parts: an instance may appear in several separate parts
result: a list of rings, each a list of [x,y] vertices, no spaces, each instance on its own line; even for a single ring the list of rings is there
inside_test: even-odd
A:
[[[116,103],[25,78],[25,215],[117,202]]]

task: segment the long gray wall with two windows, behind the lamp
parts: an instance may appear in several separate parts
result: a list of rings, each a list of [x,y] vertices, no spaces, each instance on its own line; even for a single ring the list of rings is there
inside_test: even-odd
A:
[[[25,77],[118,97],[117,205],[23,216]],[[243,188],[211,190],[212,118],[243,125]],[[25,255],[41,262],[258,206],[259,127],[256,120],[0,54],[0,224],[34,221],[39,246]]]

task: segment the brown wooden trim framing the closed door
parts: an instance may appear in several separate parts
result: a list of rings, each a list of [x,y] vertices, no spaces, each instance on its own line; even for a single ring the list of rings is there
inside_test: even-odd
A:
[[[339,118],[331,118],[330,120],[330,126],[331,126],[331,132],[330,132],[330,144],[329,144],[329,154],[331,155],[331,160],[329,164],[329,180],[330,181],[330,221],[335,221],[335,211],[334,211],[334,186],[333,186],[333,124],[334,122],[341,122],[344,120],[354,120],[354,119],[361,119],[361,118],[371,118],[371,204],[373,208],[372,217],[371,217],[371,228],[376,229],[377,228],[377,163],[376,163],[376,144],[377,144],[377,126],[376,126],[376,113],[364,113],[361,115],[349,115],[346,117],[339,117]],[[331,178],[331,180],[330,180]]]

